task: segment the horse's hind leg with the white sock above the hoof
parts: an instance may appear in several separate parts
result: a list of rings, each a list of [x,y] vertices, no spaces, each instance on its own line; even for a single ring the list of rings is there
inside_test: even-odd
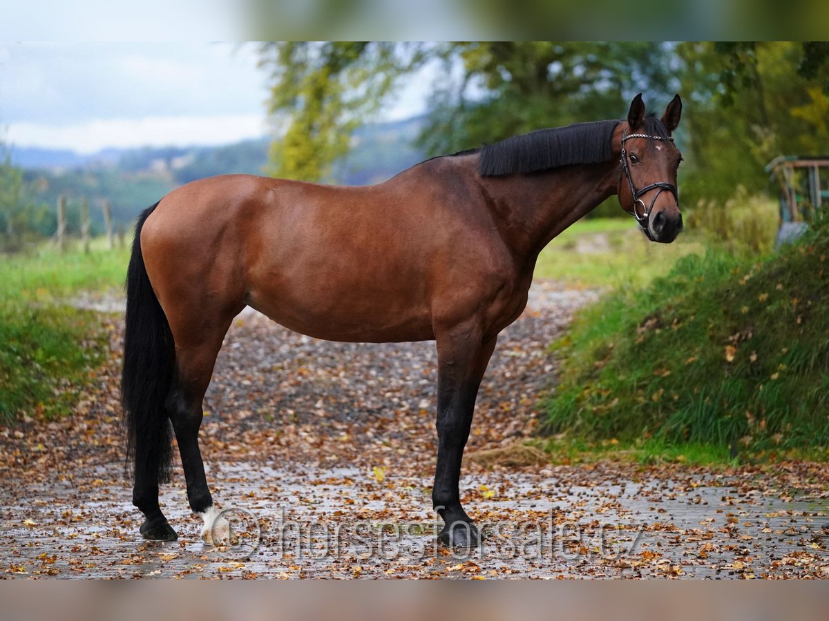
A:
[[[189,327],[186,330],[173,330],[176,338],[176,373],[167,395],[167,412],[182,455],[187,500],[192,512],[205,522],[201,536],[207,542],[213,541],[211,533],[216,540],[230,535],[227,522],[213,507],[198,440],[203,416],[201,402],[210,384],[222,339],[234,314],[228,315],[221,321],[208,324],[193,322],[194,328],[197,326],[196,330]]]

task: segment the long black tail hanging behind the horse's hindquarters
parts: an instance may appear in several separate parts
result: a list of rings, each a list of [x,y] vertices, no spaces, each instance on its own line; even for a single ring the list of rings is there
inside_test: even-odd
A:
[[[172,467],[172,429],[164,405],[176,353],[170,325],[150,285],[141,254],[141,228],[158,203],[145,209],[135,225],[127,270],[127,318],[121,406],[127,426],[127,461],[135,480],[165,482]]]

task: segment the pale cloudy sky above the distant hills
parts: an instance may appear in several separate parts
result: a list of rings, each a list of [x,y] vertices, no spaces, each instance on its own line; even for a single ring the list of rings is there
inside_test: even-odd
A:
[[[0,125],[17,147],[205,145],[264,136],[267,75],[253,44],[0,43]],[[424,109],[413,79],[385,109]]]

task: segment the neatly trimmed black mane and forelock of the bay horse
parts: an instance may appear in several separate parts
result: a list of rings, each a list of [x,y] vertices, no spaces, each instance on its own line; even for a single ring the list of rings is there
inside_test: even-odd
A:
[[[651,119],[649,117],[648,121]],[[575,123],[507,138],[481,149],[478,172],[481,176],[503,176],[610,161],[613,156],[611,138],[618,123]],[[665,132],[664,127],[662,132]]]

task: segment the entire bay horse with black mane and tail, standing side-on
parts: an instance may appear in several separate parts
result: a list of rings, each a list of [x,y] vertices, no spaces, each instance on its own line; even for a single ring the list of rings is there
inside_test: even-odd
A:
[[[251,306],[317,339],[434,339],[439,539],[477,546],[458,479],[498,333],[524,310],[541,249],[609,196],[647,238],[676,238],[681,156],[671,132],[681,108],[676,95],[662,118],[646,115],[638,94],[627,119],[434,157],[377,185],[216,176],[143,211],[128,267],[121,378],[143,537],[177,538],[158,505],[172,433],[202,536],[230,535],[207,487],[198,432],[222,340]]]

